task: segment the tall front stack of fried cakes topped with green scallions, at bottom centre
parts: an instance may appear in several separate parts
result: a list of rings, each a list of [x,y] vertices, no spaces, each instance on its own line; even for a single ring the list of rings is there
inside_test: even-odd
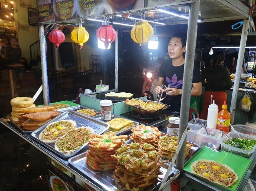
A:
[[[161,162],[159,152],[151,144],[131,143],[120,147],[114,157],[117,166],[113,178],[119,190],[144,190],[158,182]]]

